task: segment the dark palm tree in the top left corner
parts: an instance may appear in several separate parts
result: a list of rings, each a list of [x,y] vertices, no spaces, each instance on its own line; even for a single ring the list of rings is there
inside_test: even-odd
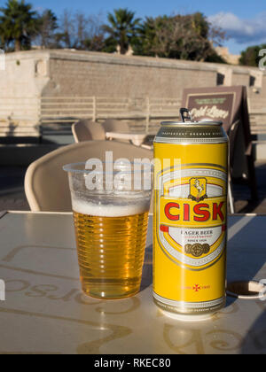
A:
[[[0,37],[2,43],[14,43],[15,51],[29,47],[31,37],[37,34],[38,19],[32,5],[24,0],[8,0],[5,8],[0,8]]]

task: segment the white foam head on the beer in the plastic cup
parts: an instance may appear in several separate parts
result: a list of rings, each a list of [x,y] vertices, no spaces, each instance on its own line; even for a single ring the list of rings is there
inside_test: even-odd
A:
[[[137,201],[128,205],[97,205],[83,200],[72,200],[73,210],[76,213],[97,217],[126,217],[130,215],[147,213],[150,210],[150,199]]]

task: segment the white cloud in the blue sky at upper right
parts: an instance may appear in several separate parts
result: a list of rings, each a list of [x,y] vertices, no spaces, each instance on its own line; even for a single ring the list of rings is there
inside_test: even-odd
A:
[[[263,43],[266,41],[266,12],[253,19],[240,19],[233,13],[220,12],[210,16],[208,20],[223,28],[227,35],[237,43]]]

